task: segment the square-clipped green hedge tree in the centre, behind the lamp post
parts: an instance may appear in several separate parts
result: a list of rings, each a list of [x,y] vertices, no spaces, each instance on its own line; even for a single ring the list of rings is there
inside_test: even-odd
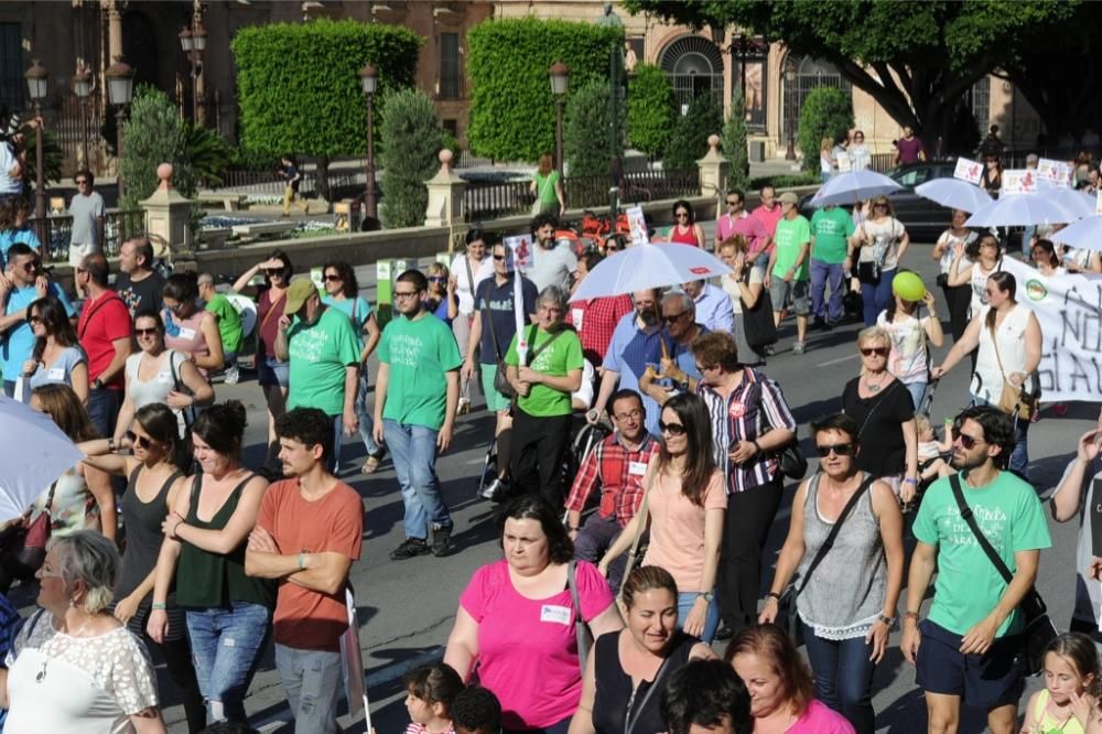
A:
[[[471,121],[476,155],[534,162],[554,150],[555,106],[548,69],[570,67],[570,91],[594,79],[608,84],[609,50],[624,30],[591,23],[521,18],[488,20],[467,32]]]

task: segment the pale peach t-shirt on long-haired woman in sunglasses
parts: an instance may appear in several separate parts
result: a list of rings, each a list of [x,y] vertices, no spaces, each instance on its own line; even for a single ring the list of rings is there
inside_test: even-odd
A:
[[[727,509],[723,474],[712,473],[704,493],[704,506],[694,505],[681,493],[681,482],[659,474],[650,488],[650,546],[644,565],[660,565],[670,572],[682,594],[710,592],[701,589],[704,572],[704,512]]]

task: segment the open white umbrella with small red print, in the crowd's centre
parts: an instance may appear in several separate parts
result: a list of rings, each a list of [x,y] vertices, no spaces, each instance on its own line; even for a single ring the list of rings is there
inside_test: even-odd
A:
[[[639,245],[602,260],[570,300],[587,301],[679,285],[728,272],[731,268],[722,260],[692,245]]]

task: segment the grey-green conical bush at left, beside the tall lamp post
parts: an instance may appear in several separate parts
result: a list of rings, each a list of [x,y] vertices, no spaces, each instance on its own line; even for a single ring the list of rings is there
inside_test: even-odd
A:
[[[151,86],[134,90],[130,117],[122,126],[122,179],[126,196],[119,208],[136,209],[160,183],[156,166],[172,164],[172,185],[183,195],[195,195],[195,174],[187,155],[186,123],[169,96]]]

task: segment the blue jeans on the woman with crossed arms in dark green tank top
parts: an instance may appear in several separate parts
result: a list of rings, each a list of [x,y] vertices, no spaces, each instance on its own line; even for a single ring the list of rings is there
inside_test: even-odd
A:
[[[260,660],[271,622],[268,607],[233,602],[231,607],[187,609],[187,637],[195,677],[207,704],[207,723],[247,722],[245,694]]]

